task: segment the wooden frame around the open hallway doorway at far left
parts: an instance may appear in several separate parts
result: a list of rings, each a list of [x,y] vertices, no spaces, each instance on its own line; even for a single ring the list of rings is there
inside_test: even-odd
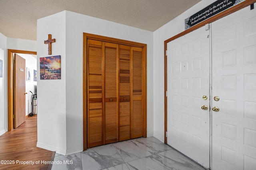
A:
[[[7,117],[8,117],[8,131],[12,131],[14,129],[13,123],[13,107],[14,107],[14,71],[13,71],[13,55],[14,53],[20,54],[32,54],[36,55],[35,51],[22,51],[22,50],[14,50],[8,49],[7,52]]]

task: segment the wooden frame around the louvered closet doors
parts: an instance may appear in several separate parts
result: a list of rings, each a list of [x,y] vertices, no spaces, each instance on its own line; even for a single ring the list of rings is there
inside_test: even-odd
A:
[[[99,41],[106,41],[110,43],[118,43],[123,45],[130,45],[134,47],[141,47],[143,49],[142,58],[142,74],[144,81],[142,88],[144,93],[143,99],[143,137],[147,137],[147,45],[143,43],[136,43],[133,41],[126,41],[122,39],[116,39],[111,37],[104,37],[101,35],[94,35],[90,33],[84,33],[83,40],[83,150],[87,149],[87,39],[94,39]]]

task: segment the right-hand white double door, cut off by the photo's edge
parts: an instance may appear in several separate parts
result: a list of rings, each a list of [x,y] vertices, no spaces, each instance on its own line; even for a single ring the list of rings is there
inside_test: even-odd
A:
[[[219,101],[214,97],[218,96]],[[256,9],[212,23],[212,170],[256,169]]]

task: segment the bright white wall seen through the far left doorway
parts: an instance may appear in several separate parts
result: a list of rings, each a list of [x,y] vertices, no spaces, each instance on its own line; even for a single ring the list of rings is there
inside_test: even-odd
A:
[[[35,86],[37,82],[34,81],[34,70],[37,70],[37,63],[36,58],[30,54],[19,54],[18,55],[26,60],[26,69],[30,68],[30,81],[27,81],[27,74],[26,74],[26,115],[28,115],[31,111],[31,100],[32,100],[32,93],[35,94]],[[27,73],[27,70],[26,70]],[[32,93],[30,93],[31,91]]]

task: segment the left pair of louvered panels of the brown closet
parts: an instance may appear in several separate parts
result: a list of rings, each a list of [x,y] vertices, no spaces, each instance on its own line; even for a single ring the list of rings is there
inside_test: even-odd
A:
[[[118,141],[118,45],[88,41],[88,147],[94,147]]]

